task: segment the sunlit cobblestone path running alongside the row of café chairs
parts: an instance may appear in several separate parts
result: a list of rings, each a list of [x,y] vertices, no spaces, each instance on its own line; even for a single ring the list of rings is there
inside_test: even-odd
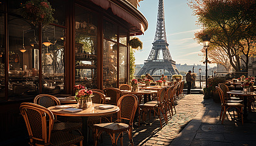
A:
[[[169,117],[168,114],[168,123],[165,123],[162,116],[162,129],[160,128],[160,120],[157,116],[152,117],[152,114],[151,121],[146,119],[146,122],[141,123],[140,127],[134,125],[132,133],[134,145],[169,145],[177,134],[185,128],[188,122],[204,108],[204,105],[201,103],[202,100],[202,94],[189,94],[177,100],[177,113],[172,117]],[[98,145],[112,145],[110,136],[104,133],[103,139],[103,142],[100,142]],[[129,145],[127,134],[124,134],[124,145]]]

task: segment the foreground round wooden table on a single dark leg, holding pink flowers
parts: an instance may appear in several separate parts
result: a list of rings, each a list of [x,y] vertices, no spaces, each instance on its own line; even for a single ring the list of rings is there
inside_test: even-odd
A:
[[[87,137],[88,136],[87,135],[88,117],[104,116],[104,115],[113,114],[119,111],[118,106],[115,106],[115,105],[113,105],[113,108],[110,108],[110,109],[98,109],[97,107],[99,105],[104,105],[104,104],[95,103],[94,109],[91,109],[91,107],[89,107],[89,108],[82,109],[82,111],[74,112],[74,113],[63,111],[63,109],[57,109],[55,108],[55,106],[51,106],[48,109],[52,111],[53,114],[59,115],[59,116],[82,117],[82,134],[84,136],[83,145],[88,145],[87,144],[88,143],[88,137]],[[77,104],[69,104],[69,106],[73,106],[73,108],[77,108]]]

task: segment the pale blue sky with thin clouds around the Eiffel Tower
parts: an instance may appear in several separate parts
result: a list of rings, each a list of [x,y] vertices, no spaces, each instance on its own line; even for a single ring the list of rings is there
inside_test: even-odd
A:
[[[202,56],[199,56],[202,54],[200,50],[203,46],[193,39],[194,33],[201,30],[201,27],[196,25],[197,18],[187,2],[187,0],[164,0],[165,31],[169,51],[176,64],[203,64]],[[143,64],[144,60],[148,59],[157,26],[158,0],[144,0],[139,4],[138,10],[146,17],[149,26],[144,35],[138,36],[143,42],[143,50],[135,52],[135,64]]]

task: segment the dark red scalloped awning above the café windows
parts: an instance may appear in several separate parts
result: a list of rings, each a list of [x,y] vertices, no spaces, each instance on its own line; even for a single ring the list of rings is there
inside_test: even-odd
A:
[[[99,5],[105,10],[110,8],[114,15],[117,15],[120,18],[124,19],[125,21],[127,21],[127,23],[132,24],[132,26],[137,27],[137,29],[140,30],[141,32],[136,33],[136,35],[139,35],[139,33],[144,33],[144,27],[140,23],[140,21],[137,18],[135,18],[135,16],[127,12],[126,10],[114,4],[112,1],[108,1],[108,0],[90,0],[90,1],[96,5]]]

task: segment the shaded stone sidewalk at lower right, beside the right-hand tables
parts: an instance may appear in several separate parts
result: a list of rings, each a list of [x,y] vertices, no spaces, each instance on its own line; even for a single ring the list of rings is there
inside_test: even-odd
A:
[[[205,107],[178,134],[171,145],[256,145],[255,111],[248,114],[244,125],[240,120],[232,120],[229,114],[221,124],[220,104],[214,103],[212,99],[204,100],[204,104]]]

